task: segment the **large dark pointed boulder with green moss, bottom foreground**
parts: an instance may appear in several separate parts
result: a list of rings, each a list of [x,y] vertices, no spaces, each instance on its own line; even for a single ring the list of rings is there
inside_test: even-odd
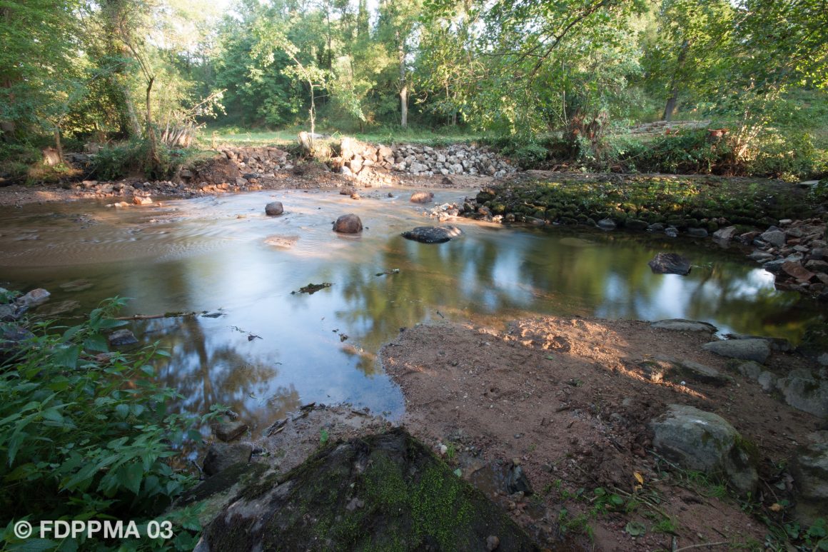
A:
[[[195,550],[538,550],[403,429],[321,449],[242,491]],[[489,540],[491,542],[491,540]]]

